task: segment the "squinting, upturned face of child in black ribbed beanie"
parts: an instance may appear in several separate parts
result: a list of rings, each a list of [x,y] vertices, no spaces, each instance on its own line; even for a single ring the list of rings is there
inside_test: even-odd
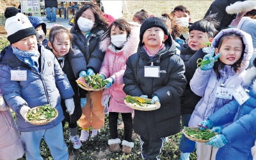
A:
[[[164,35],[163,29],[153,27],[148,28],[143,33],[142,42],[146,47],[160,47],[167,38],[168,36]]]

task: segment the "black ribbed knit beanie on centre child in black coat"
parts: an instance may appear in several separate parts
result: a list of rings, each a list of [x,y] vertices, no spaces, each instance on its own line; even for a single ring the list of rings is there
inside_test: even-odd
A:
[[[148,19],[145,19],[140,27],[140,42],[142,42],[143,34],[148,28],[162,28],[164,31],[164,35],[169,36],[168,28],[164,24],[163,20],[157,18],[157,17],[149,17]]]

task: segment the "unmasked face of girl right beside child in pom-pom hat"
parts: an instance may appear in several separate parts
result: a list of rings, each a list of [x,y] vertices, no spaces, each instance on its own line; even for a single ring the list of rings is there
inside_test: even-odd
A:
[[[52,44],[49,43],[49,47],[56,57],[65,56],[70,49],[70,38],[67,33],[56,35]]]

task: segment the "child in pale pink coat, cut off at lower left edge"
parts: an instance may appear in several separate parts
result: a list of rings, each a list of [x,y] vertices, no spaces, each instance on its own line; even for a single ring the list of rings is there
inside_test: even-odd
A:
[[[24,147],[12,113],[0,95],[0,159],[15,160],[24,154]]]

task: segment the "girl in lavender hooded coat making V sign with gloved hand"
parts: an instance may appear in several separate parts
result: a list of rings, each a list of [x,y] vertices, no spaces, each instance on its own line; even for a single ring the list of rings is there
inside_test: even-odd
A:
[[[214,37],[209,54],[203,59],[211,63],[197,68],[190,81],[191,90],[202,99],[196,104],[189,127],[198,127],[202,120],[230,102],[233,90],[243,84],[243,71],[252,52],[252,37],[240,29],[223,29]],[[216,61],[218,57],[220,60]],[[215,159],[216,152],[216,148],[196,143],[198,159]]]

